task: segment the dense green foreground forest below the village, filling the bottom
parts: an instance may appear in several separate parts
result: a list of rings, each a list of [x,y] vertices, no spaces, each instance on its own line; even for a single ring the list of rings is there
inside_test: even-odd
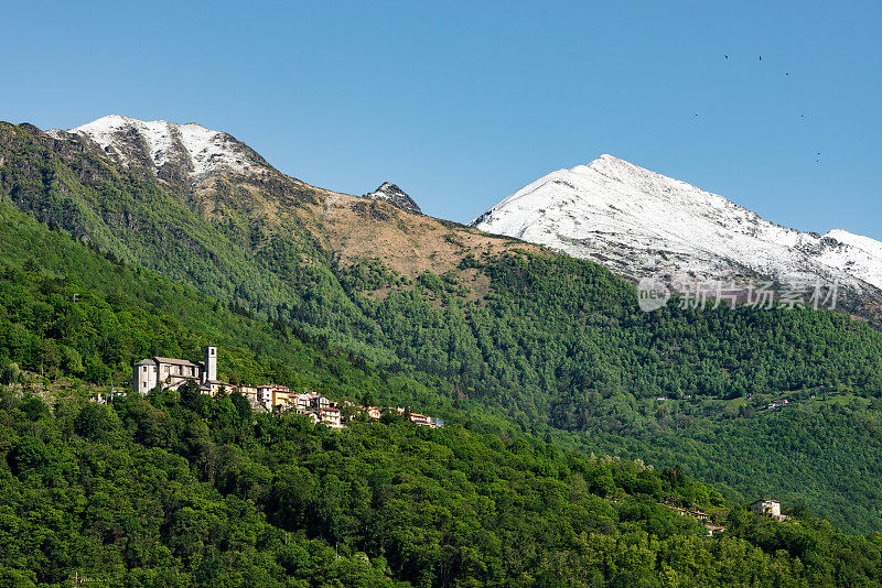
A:
[[[882,582],[882,535],[762,519],[678,469],[461,426],[336,433],[186,389],[0,390],[0,578],[21,587]]]

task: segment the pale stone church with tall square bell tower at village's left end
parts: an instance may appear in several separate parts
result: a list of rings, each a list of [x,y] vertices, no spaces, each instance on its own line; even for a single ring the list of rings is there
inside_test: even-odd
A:
[[[190,380],[196,380],[206,394],[229,388],[228,383],[217,380],[217,346],[205,346],[204,361],[168,357],[142,359],[135,364],[132,389],[141,394],[147,394],[158,384],[163,390],[178,390]]]

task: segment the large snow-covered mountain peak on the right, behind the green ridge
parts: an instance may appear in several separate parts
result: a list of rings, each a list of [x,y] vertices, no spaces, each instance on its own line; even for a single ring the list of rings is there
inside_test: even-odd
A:
[[[838,282],[878,302],[882,242],[770,222],[717,194],[612,155],[552,172],[471,222],[642,277]]]

